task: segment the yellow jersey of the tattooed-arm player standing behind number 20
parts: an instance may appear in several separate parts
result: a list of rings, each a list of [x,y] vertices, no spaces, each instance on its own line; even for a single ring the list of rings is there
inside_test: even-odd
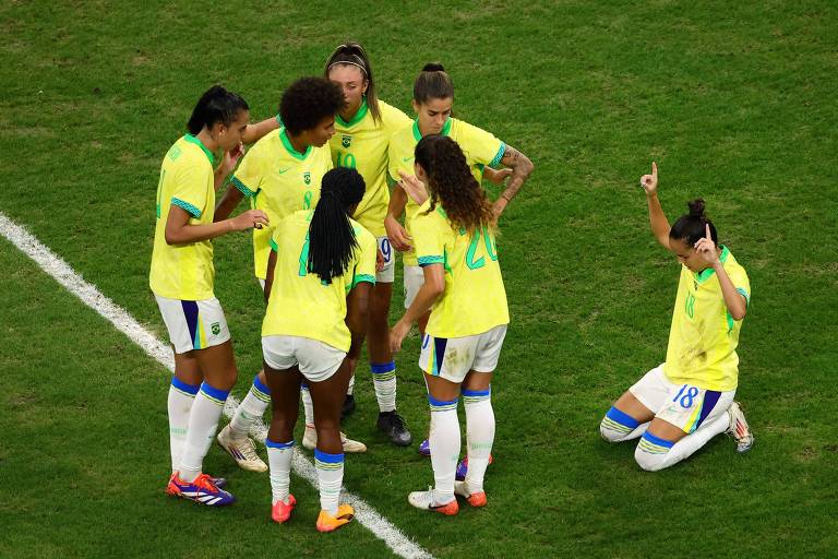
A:
[[[490,167],[498,165],[506,148],[506,144],[491,133],[456,118],[450,118],[445,126],[442,127],[441,133],[457,142],[457,145],[459,145],[463,154],[466,156],[466,163],[471,168],[471,174],[478,182],[483,179],[483,167],[487,165]],[[390,140],[388,168],[393,180],[398,181],[402,179],[398,174],[399,170],[408,175],[415,174],[414,151],[416,150],[416,144],[421,139],[422,134],[419,132],[418,120],[414,121],[411,127],[404,128],[393,134],[393,138]],[[411,223],[417,212],[419,212],[419,205],[408,197],[407,205],[405,206],[405,228],[410,236],[412,236]],[[417,265],[415,252],[405,252],[404,259],[406,265]]]

